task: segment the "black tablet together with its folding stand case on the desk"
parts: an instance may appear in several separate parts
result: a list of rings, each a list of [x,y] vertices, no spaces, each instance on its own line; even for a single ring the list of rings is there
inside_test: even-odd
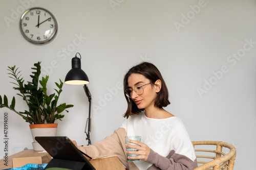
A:
[[[35,140],[53,157],[45,169],[50,167],[73,170],[95,169],[67,136],[36,136]]]

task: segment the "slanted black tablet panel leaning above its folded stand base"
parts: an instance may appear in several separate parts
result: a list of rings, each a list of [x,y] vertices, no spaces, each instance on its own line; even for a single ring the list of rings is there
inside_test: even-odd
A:
[[[36,136],[35,140],[53,159],[85,162],[88,169],[95,169],[67,136]]]

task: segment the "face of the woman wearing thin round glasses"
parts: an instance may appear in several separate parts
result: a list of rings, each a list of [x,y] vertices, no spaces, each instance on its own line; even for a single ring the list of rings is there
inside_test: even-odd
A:
[[[128,88],[134,89],[137,85],[145,85],[151,83],[145,76],[141,74],[132,74],[128,79]],[[153,85],[153,86],[152,86]],[[134,90],[131,92],[131,99],[135,102],[139,109],[146,109],[147,107],[154,107],[155,99],[157,96],[156,85],[154,82],[152,84],[147,84],[143,86],[144,92],[142,94],[137,94]]]

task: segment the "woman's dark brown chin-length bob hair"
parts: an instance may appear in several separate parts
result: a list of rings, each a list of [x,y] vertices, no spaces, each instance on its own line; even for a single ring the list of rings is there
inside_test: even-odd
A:
[[[134,103],[134,101],[129,99],[125,95],[125,90],[128,88],[128,78],[132,74],[143,75],[148,80],[150,80],[150,82],[156,82],[157,80],[161,80],[162,86],[161,86],[161,90],[157,94],[157,98],[155,101],[155,107],[162,108],[162,107],[166,107],[170,104],[170,102],[168,100],[168,96],[169,96],[168,89],[167,89],[167,86],[166,86],[166,84],[163,80],[163,77],[162,77],[160,71],[158,70],[158,68],[152,63],[142,62],[142,63],[132,67],[129,71],[127,71],[126,75],[124,76],[124,79],[123,79],[123,89],[124,90],[123,91],[124,91],[124,96],[125,96],[128,106],[127,106],[126,112],[123,114],[123,117],[128,118],[130,115],[140,114],[140,112],[144,110],[144,109],[139,109],[137,107],[137,105]]]

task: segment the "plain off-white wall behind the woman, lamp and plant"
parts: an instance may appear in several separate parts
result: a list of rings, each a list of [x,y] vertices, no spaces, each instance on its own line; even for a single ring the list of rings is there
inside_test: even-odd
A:
[[[110,2],[116,2],[116,6]],[[252,0],[2,0],[0,94],[9,99],[16,94],[9,83],[7,66],[18,66],[24,78],[30,80],[30,68],[41,61],[42,71],[50,76],[50,90],[59,78],[64,81],[71,59],[79,52],[82,69],[90,79],[94,143],[111,135],[124,120],[126,102],[118,86],[124,72],[140,61],[150,61],[167,83],[172,104],[166,109],[183,119],[191,140],[229,142],[237,148],[234,169],[251,169],[256,158],[255,5]],[[57,19],[58,34],[49,44],[31,44],[20,33],[19,17],[32,7],[46,8]],[[6,18],[11,22],[7,23]],[[77,36],[81,44],[74,49]],[[64,48],[68,53],[63,52]],[[55,61],[57,66],[53,68],[51,63]],[[199,88],[205,90],[201,95]],[[110,89],[118,90],[111,94]],[[65,113],[62,122],[57,122],[57,135],[87,144],[83,131],[89,103],[82,86],[65,84],[61,102],[75,106]],[[18,96],[16,105],[21,111],[26,108]],[[9,154],[18,150],[14,147],[32,147],[28,123],[1,109],[5,111],[9,112]],[[3,130],[0,136],[4,138]],[[3,146],[0,153],[4,156]]]

